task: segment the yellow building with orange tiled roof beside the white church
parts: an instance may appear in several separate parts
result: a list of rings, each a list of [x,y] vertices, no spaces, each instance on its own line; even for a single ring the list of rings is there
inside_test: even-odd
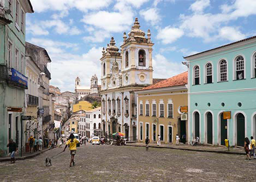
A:
[[[188,105],[187,75],[183,72],[135,92],[139,142],[145,142],[146,137],[156,142],[158,135],[163,143],[175,143],[176,134],[186,138],[188,123],[180,107]]]

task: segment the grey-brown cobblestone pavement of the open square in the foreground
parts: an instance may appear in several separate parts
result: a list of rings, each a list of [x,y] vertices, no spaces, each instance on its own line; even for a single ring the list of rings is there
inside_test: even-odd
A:
[[[46,167],[45,157],[62,149],[15,164],[0,163],[1,181],[256,181],[256,160],[247,161],[243,155],[158,148],[88,144],[78,148],[75,166],[69,167],[66,150]]]

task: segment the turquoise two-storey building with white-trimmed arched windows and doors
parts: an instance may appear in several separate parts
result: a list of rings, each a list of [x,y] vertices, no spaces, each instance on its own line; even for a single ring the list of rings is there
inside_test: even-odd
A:
[[[256,137],[256,36],[184,59],[188,141],[199,137],[201,143],[224,145],[229,139],[243,146],[245,137]]]

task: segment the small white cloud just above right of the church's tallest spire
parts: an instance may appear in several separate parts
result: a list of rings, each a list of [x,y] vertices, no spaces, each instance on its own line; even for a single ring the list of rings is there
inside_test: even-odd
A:
[[[140,10],[140,16],[144,17],[147,22],[151,22],[152,25],[159,24],[161,21],[158,8],[142,9]]]

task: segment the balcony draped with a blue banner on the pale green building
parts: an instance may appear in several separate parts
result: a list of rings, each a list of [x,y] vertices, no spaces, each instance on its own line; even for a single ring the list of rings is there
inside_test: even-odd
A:
[[[27,80],[28,78],[22,75],[19,71],[15,70],[14,68],[8,68],[8,86],[28,89]]]

